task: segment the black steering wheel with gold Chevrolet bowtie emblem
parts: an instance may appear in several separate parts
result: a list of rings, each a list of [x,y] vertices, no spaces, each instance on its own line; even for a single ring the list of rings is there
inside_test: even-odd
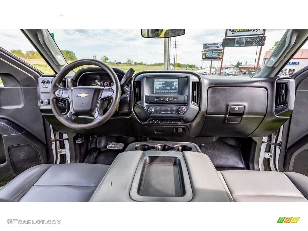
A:
[[[101,67],[106,71],[112,81],[112,87],[101,86],[82,86],[82,87],[60,87],[62,79],[76,67],[83,65],[94,65]],[[96,128],[107,120],[115,112],[119,105],[121,97],[120,81],[115,72],[107,64],[95,59],[80,59],[65,66],[56,75],[51,83],[50,105],[55,117],[69,128],[77,130],[86,130]],[[69,111],[63,115],[58,108],[58,99],[65,99],[69,102]],[[107,107],[107,100],[111,100]],[[105,113],[104,113],[105,112]],[[74,122],[77,118],[85,118],[93,120],[87,124],[78,124]]]

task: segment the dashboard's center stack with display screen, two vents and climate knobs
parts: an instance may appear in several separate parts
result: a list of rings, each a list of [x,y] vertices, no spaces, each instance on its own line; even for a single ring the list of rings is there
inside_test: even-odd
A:
[[[201,107],[200,78],[176,71],[143,72],[133,79],[132,98],[142,136],[188,137]]]

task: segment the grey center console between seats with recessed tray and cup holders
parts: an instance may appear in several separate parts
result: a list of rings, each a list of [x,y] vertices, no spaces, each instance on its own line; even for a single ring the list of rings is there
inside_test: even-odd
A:
[[[209,157],[193,143],[130,144],[111,164],[91,202],[230,202]]]

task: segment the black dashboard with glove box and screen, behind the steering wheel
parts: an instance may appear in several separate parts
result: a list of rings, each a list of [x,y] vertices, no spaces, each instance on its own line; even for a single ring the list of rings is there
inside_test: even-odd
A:
[[[121,81],[125,72],[114,70]],[[111,119],[98,128],[77,131],[57,121],[46,103],[46,84],[53,78],[43,75],[39,79],[39,107],[47,121],[65,133],[167,140],[268,136],[289,119],[295,100],[295,83],[288,77],[257,79],[190,71],[142,71],[125,85]],[[112,84],[111,77],[99,68],[83,68],[63,80],[66,87]],[[58,102],[63,114],[69,108],[67,103]]]

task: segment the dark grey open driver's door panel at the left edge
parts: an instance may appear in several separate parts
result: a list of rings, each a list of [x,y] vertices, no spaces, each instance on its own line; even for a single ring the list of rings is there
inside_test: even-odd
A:
[[[0,186],[32,166],[53,162],[47,155],[49,125],[37,104],[41,74],[0,47]]]

